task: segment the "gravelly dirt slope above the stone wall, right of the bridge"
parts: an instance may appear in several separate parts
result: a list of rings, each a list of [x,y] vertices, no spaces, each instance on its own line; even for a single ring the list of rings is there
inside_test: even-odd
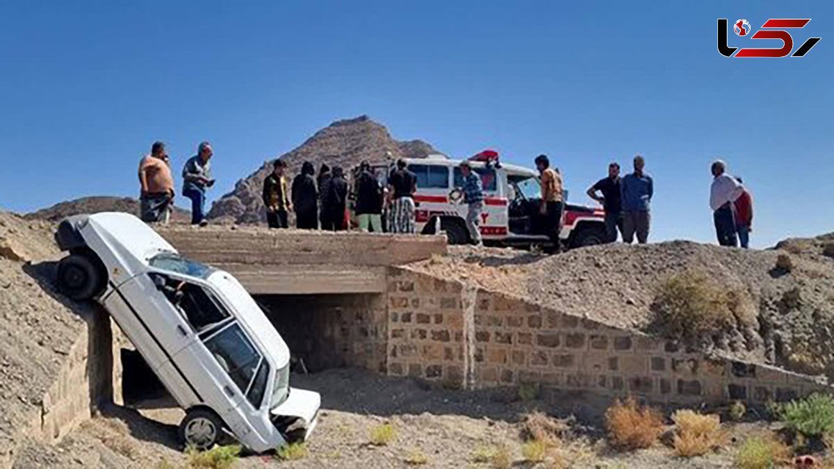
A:
[[[790,259],[790,270],[776,267],[780,256]],[[661,286],[676,274],[698,271],[741,291],[753,316],[729,334],[716,331],[703,344],[707,348],[803,373],[831,374],[834,367],[832,235],[786,240],[774,250],[686,241],[594,246],[555,256],[456,248],[411,268],[644,331],[657,331],[653,304]]]

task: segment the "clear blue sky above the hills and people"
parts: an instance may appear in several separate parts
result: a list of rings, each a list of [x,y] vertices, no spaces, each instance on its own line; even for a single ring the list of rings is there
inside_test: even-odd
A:
[[[2,2],[0,207],[137,196],[203,139],[210,200],[332,121],[369,114],[455,155],[549,154],[574,202],[646,156],[651,240],[714,242],[709,164],[755,197],[752,244],[834,231],[830,2]],[[716,18],[812,18],[804,58],[725,58]],[[778,47],[730,33],[730,45]],[[183,204],[183,199],[178,200]]]

